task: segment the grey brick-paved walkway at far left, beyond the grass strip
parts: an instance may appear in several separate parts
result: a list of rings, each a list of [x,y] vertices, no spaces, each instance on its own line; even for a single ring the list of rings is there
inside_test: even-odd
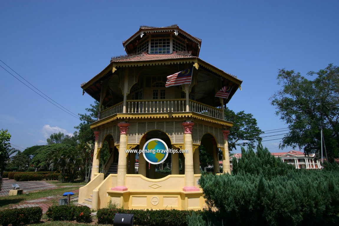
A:
[[[23,193],[29,191],[43,190],[47,188],[57,187],[54,184],[49,184],[45,181],[21,181],[17,182],[13,179],[3,179],[0,196],[8,196],[9,190],[13,189],[12,184],[18,184],[20,189],[23,189]]]

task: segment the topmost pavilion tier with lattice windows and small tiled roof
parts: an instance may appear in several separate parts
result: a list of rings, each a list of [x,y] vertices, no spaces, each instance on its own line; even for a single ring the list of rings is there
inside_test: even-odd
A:
[[[122,42],[127,54],[172,54],[191,52],[198,57],[201,39],[179,28],[177,24],[167,27],[140,26],[140,29]]]

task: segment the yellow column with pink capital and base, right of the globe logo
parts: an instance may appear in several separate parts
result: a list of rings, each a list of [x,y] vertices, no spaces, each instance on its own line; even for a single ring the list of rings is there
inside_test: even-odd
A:
[[[192,143],[192,129],[193,122],[183,122],[184,126],[184,146],[188,150],[185,153],[185,187],[183,191],[200,191],[194,186],[194,169],[193,169],[193,143]]]

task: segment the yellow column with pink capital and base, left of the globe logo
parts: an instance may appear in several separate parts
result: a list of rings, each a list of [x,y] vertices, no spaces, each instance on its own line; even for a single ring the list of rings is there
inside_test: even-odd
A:
[[[129,123],[118,123],[120,128],[120,145],[119,145],[119,160],[118,160],[118,178],[117,186],[111,188],[113,191],[126,191],[126,146],[127,146],[127,126]]]

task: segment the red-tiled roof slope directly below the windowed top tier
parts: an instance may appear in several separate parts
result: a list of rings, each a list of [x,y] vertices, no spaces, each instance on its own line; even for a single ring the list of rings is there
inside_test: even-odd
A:
[[[112,57],[112,62],[131,62],[131,61],[151,61],[151,60],[168,60],[168,59],[181,59],[181,58],[197,58],[192,56],[190,52],[174,52],[172,54],[134,54]]]

